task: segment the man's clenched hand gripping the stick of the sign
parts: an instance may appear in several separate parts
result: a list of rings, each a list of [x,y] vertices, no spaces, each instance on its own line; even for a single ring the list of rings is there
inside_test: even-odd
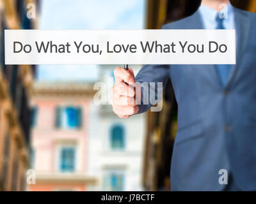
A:
[[[110,103],[113,106],[113,112],[121,119],[126,119],[139,111],[136,105],[136,90],[141,96],[141,88],[135,84],[131,68],[128,70],[116,68],[114,75],[115,85],[110,89]]]

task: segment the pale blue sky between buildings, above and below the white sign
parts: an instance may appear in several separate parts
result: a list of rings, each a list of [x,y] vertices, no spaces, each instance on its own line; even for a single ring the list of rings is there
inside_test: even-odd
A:
[[[42,0],[38,29],[143,29],[146,0]],[[38,80],[96,81],[95,65],[39,65]]]

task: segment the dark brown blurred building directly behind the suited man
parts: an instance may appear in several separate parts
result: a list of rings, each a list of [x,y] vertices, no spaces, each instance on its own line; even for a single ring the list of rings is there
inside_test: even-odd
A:
[[[255,12],[255,0],[230,0],[237,8]],[[201,0],[148,0],[147,29],[161,29],[163,24],[192,15]],[[170,190],[172,149],[177,132],[177,102],[172,83],[164,91],[163,110],[147,112],[143,186],[150,191]]]

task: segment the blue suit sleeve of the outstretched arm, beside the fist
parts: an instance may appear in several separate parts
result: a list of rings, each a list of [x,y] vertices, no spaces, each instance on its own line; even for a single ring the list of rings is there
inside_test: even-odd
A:
[[[136,82],[141,84],[141,104],[138,105],[140,110],[138,113],[147,112],[152,106],[156,105],[162,96],[163,90],[157,88],[157,82],[163,83],[163,89],[167,84],[170,77],[170,65],[145,65],[143,66],[138,75],[136,75]]]

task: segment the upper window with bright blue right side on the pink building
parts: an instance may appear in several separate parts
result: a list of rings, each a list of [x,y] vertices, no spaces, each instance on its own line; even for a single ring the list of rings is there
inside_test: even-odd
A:
[[[73,106],[56,107],[56,128],[77,129],[81,127],[81,108]]]

